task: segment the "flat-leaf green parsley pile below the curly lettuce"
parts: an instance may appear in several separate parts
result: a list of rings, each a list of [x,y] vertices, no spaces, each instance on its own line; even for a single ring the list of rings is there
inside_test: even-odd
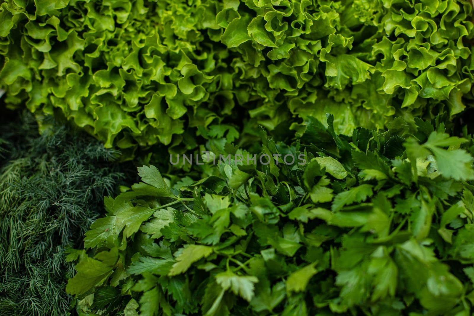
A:
[[[263,135],[263,153],[305,154],[301,165],[139,168],[142,182],[106,198],[109,216],[86,233],[67,285],[78,313],[471,315],[473,138],[394,120],[348,137],[332,116],[328,128],[310,117],[291,144]]]

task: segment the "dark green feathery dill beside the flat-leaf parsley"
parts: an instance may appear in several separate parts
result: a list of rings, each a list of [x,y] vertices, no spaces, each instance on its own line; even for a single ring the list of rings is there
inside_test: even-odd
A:
[[[49,123],[54,129],[42,136],[31,114],[0,123],[2,316],[68,314],[72,298],[64,288],[74,268],[65,262],[67,248],[82,245],[84,232],[103,214],[103,195],[124,177],[113,163],[117,152]]]

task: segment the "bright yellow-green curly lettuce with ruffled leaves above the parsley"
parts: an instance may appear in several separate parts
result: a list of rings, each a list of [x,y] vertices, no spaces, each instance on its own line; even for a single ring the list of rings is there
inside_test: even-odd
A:
[[[463,111],[472,18],[469,0],[9,0],[0,86],[9,106],[58,108],[125,157],[195,148],[227,118],[273,130],[332,113],[351,135]]]

